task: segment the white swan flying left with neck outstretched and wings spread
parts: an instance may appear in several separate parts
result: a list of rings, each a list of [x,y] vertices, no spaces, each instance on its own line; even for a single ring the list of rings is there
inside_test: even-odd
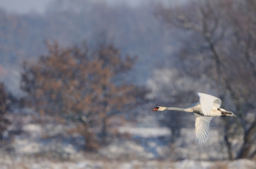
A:
[[[221,99],[198,92],[200,100],[191,105],[188,108],[177,108],[177,107],[156,107],[153,111],[163,110],[178,110],[184,112],[193,112],[195,114],[196,122],[196,138],[198,143],[205,142],[208,135],[209,126],[212,117],[214,116],[235,116],[233,112],[220,108]]]

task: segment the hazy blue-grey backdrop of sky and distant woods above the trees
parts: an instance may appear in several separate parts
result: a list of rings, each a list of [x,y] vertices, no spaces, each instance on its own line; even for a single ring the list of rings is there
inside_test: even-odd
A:
[[[10,36],[13,31],[19,29],[19,34],[15,37],[19,38],[18,41],[6,34],[8,43],[17,50],[8,49],[4,51],[5,58],[1,56],[2,66],[13,64],[15,67],[8,70],[12,76],[4,78],[7,84],[12,84],[8,87],[15,91],[14,93],[19,93],[17,90],[19,87],[15,86],[18,82],[15,82],[15,79],[19,78],[17,71],[19,71],[20,63],[25,58],[32,59],[45,54],[45,40],[57,40],[61,45],[66,46],[86,40],[88,45],[95,47],[97,43],[106,39],[108,43],[114,43],[120,48],[123,54],[139,56],[139,61],[134,68],[136,73],[130,75],[132,77],[127,77],[132,78],[136,84],[145,85],[154,68],[170,63],[159,61],[160,58],[170,56],[173,50],[170,41],[173,38],[170,38],[170,32],[163,29],[159,25],[159,20],[154,16],[153,6],[156,4],[154,1],[145,4],[142,1],[125,0],[76,1],[66,3],[68,7],[63,6],[64,2],[1,1],[0,5],[3,6],[4,15],[6,17],[13,15],[13,19],[20,24],[8,28]],[[81,11],[78,7],[79,3],[82,3],[85,9],[86,6],[92,6],[95,9],[92,11],[88,8]],[[119,6],[123,11],[118,10]],[[67,13],[64,15],[60,12],[55,13],[58,10],[66,10]],[[73,17],[76,15],[76,19],[70,18],[72,15]]]

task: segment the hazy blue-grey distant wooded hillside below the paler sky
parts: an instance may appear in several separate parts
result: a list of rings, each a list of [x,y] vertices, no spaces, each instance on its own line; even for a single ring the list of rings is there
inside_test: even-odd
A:
[[[7,74],[15,80],[19,80],[15,72],[20,71],[21,61],[38,59],[38,54],[47,53],[42,45],[45,39],[57,40],[65,47],[86,39],[88,47],[97,48],[101,33],[106,33],[106,38],[122,52],[140,54],[132,71],[125,76],[140,85],[145,85],[150,77],[148,70],[170,54],[167,45],[171,39],[166,36],[169,32],[163,31],[152,15],[149,2],[133,6],[106,1],[52,0],[46,10],[17,14],[0,8],[0,62],[7,70],[10,68]],[[4,79],[4,83],[8,88],[18,89],[12,78]],[[13,93],[17,95],[16,91]]]

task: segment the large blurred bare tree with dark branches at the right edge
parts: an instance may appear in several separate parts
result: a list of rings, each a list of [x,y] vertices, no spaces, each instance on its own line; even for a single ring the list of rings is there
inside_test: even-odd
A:
[[[256,155],[255,7],[251,0],[205,0],[190,1],[181,8],[160,5],[157,9],[164,22],[189,32],[180,50],[180,63],[187,75],[207,75],[223,107],[234,107],[237,119],[223,118],[229,159]],[[243,135],[243,144],[234,152],[237,145],[233,141],[239,135]]]

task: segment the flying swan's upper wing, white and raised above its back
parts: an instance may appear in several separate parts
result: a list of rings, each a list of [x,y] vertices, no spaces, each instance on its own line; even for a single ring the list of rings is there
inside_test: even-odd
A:
[[[198,92],[198,96],[200,98],[200,105],[202,108],[202,113],[204,115],[210,115],[213,106],[219,108],[221,105],[221,99],[211,96],[209,94]]]

